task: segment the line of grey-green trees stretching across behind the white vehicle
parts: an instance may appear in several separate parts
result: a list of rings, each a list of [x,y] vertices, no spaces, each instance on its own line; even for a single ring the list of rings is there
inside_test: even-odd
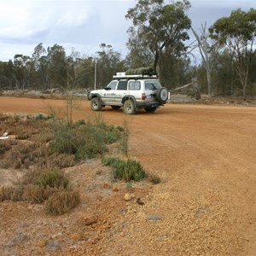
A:
[[[182,0],[137,0],[128,9],[132,21],[123,56],[111,45],[101,44],[95,55],[81,56],[73,49],[54,44],[47,49],[38,44],[32,56],[15,55],[13,61],[0,61],[0,90],[46,90],[81,88],[90,90],[108,84],[116,72],[130,68],[153,67],[160,83],[168,89],[189,84],[197,78],[208,96],[256,95],[256,10],[233,10],[212,26],[202,24],[196,31],[189,19],[191,4]],[[188,44],[189,32],[195,42]],[[195,49],[201,63],[193,65]]]

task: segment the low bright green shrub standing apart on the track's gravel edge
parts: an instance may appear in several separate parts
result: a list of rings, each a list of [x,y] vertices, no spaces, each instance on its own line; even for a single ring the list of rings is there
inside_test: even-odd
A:
[[[146,173],[141,163],[137,160],[121,160],[119,158],[110,157],[102,159],[105,166],[112,168],[113,179],[123,179],[125,182],[140,181],[146,177]]]

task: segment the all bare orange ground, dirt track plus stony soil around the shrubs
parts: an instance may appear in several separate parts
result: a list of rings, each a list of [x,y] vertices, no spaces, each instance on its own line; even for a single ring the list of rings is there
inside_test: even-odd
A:
[[[49,114],[49,107],[65,115],[61,100],[0,97],[2,113]],[[95,114],[86,100],[73,111],[75,119]],[[81,205],[50,217],[42,205],[0,203],[0,254],[255,254],[256,108],[166,104],[155,113],[100,114],[113,125],[126,119],[130,156],[161,183],[113,183],[100,160],[67,168]],[[3,181],[19,176],[0,172]],[[125,201],[126,193],[135,197]]]

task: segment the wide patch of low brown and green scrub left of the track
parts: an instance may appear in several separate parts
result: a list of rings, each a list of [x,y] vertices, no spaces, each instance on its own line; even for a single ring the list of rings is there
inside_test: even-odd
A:
[[[106,144],[121,136],[120,127],[106,125],[101,118],[67,125],[63,120],[41,116],[9,117],[0,114],[0,135],[12,135],[0,143],[0,167],[21,169],[19,183],[0,189],[0,201],[43,203],[49,214],[63,214],[78,206],[80,195],[69,187],[64,172],[78,160],[96,157]]]

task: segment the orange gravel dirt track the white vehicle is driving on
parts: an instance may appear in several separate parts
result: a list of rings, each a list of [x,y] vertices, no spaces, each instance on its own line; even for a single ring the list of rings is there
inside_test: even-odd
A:
[[[0,97],[1,113],[49,108],[65,113],[61,101]],[[73,117],[94,114],[83,101]],[[130,156],[162,182],[143,207],[128,206],[134,211],[116,223],[111,239],[98,241],[99,254],[256,254],[256,108],[167,104],[155,113],[101,114],[115,125],[126,119]]]

